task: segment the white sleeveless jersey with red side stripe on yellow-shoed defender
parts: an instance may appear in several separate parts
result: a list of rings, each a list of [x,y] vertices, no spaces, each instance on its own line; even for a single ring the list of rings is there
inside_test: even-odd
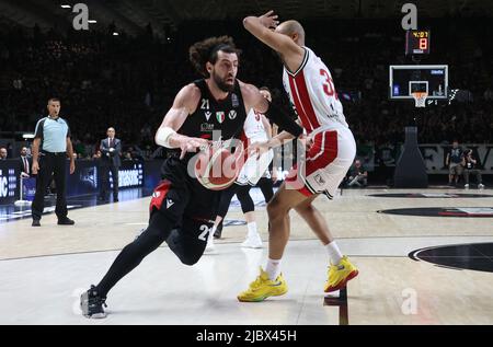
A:
[[[348,128],[331,71],[313,50],[303,47],[305,58],[293,73],[284,68],[283,84],[310,135],[322,129]]]

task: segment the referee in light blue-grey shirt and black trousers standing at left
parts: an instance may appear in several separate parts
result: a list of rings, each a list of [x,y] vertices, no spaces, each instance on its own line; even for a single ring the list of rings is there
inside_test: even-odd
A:
[[[33,170],[37,174],[36,194],[32,205],[33,227],[41,227],[39,220],[45,205],[45,192],[55,177],[57,187],[57,207],[55,213],[58,224],[73,225],[74,221],[67,217],[67,200],[65,190],[65,173],[67,154],[70,158],[70,174],[76,171],[73,160],[72,142],[70,141],[70,129],[67,122],[60,118],[60,101],[48,100],[48,116],[39,119],[36,124],[33,141]]]

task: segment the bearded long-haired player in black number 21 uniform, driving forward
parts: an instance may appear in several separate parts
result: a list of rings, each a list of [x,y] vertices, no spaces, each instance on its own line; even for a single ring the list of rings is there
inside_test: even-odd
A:
[[[208,190],[187,174],[197,148],[216,140],[240,137],[250,108],[267,112],[271,119],[299,136],[302,129],[270,106],[259,90],[237,80],[239,50],[231,37],[211,37],[190,48],[190,60],[205,77],[185,85],[156,135],[156,142],[174,150],[162,165],[162,181],[150,203],[149,225],[118,254],[98,286],[81,296],[82,314],[105,317],[107,292],[152,251],[167,242],[185,265],[202,257],[216,217],[219,192]],[[271,108],[271,109],[270,109]]]

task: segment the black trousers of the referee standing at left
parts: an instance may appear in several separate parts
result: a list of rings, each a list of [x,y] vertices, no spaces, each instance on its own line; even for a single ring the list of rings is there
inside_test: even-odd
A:
[[[55,213],[58,219],[67,217],[67,199],[66,199],[66,163],[67,154],[64,153],[49,153],[45,152],[39,154],[38,159],[39,171],[36,177],[36,194],[34,195],[33,205],[31,206],[33,219],[39,220],[45,208],[45,193],[49,183],[51,182],[51,175],[55,178],[55,185],[57,187],[57,207]]]

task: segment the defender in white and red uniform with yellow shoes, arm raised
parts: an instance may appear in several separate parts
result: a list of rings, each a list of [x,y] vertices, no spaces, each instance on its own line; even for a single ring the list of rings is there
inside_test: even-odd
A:
[[[325,292],[339,290],[357,276],[356,267],[341,254],[322,215],[312,205],[320,195],[332,198],[353,163],[356,143],[344,118],[328,67],[305,46],[305,30],[297,21],[278,25],[273,11],[262,16],[249,16],[244,27],[277,51],[284,62],[283,83],[307,132],[310,148],[306,160],[295,166],[286,182],[267,205],[271,231],[268,261],[265,271],[250,288],[238,296],[240,301],[262,301],[287,292],[280,274],[280,261],[289,239],[289,211],[295,209],[325,246],[331,266]],[[255,150],[267,150],[293,138],[280,132]]]

